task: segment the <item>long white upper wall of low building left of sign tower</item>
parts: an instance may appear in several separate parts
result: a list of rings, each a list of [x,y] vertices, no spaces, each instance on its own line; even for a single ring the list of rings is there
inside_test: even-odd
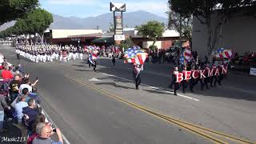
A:
[[[98,34],[102,30],[51,30],[52,38],[68,38],[71,35]]]

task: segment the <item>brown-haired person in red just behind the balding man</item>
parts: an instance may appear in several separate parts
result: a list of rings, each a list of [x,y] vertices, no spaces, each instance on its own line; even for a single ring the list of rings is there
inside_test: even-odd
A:
[[[40,132],[38,131],[38,129],[42,129],[43,126],[46,126],[46,116],[44,114],[38,114],[37,117],[35,118],[33,127],[32,127],[32,135],[30,136],[30,138],[28,138],[27,140],[27,144],[32,144],[34,138],[38,137],[38,134],[40,134]]]

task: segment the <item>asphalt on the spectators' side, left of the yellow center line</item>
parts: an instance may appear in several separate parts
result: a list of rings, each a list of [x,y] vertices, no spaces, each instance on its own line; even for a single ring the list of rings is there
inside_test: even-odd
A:
[[[10,49],[1,46],[0,52],[9,62],[17,64],[14,50]],[[66,72],[76,74],[72,73],[70,63],[35,64],[26,59],[20,63],[32,79],[39,78],[42,107],[70,143],[210,143],[178,126],[70,81]]]

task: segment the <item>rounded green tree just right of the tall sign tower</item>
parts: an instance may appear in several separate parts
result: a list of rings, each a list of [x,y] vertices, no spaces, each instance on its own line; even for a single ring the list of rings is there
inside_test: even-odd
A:
[[[138,35],[143,38],[149,38],[153,41],[153,45],[157,42],[158,38],[162,38],[162,34],[165,31],[165,24],[157,21],[150,21],[141,26],[136,26]]]

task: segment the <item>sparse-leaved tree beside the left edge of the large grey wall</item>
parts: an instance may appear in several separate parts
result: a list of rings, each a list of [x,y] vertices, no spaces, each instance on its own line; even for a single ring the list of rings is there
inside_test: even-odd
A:
[[[189,17],[181,17],[180,14],[175,13],[171,10],[171,6],[169,6],[169,11],[167,12],[169,20],[168,20],[168,28],[172,30],[176,30],[181,33],[182,37],[185,37],[187,40],[192,42],[192,21],[193,17],[190,15]]]

